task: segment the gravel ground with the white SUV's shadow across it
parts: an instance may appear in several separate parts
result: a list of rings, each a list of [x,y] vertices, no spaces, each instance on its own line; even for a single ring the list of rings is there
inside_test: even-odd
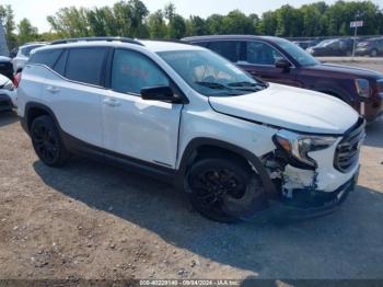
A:
[[[359,186],[335,214],[228,226],[148,177],[79,158],[49,169],[1,113],[0,278],[383,279],[382,134],[368,127]]]

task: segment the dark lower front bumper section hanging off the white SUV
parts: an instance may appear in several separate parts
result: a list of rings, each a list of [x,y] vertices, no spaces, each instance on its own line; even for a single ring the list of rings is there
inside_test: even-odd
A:
[[[320,217],[335,211],[355,190],[359,177],[359,169],[353,176],[336,191],[321,192],[294,190],[290,198],[270,199],[268,214],[278,221],[301,220]]]

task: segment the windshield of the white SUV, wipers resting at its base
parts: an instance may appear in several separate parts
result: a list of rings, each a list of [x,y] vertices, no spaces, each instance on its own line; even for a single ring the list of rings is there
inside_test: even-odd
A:
[[[241,95],[267,87],[210,50],[161,51],[158,55],[194,90],[207,96]]]

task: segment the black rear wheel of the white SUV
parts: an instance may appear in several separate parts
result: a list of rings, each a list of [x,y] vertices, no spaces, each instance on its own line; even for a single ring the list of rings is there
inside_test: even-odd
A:
[[[58,168],[67,162],[69,153],[50,116],[44,115],[33,120],[31,138],[37,157],[46,165]]]

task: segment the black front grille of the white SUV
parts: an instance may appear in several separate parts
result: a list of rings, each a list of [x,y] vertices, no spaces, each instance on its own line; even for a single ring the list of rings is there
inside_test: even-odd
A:
[[[347,173],[358,164],[360,147],[365,136],[364,127],[365,120],[360,117],[339,142],[334,159],[334,168],[338,171]]]

